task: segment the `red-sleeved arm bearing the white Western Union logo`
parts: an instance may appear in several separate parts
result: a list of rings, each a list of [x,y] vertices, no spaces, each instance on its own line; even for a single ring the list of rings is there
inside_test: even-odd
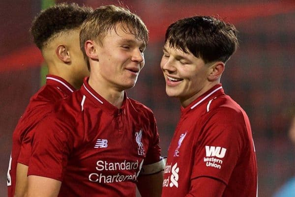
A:
[[[227,117],[235,117],[235,121]],[[233,110],[216,111],[207,117],[202,137],[195,138],[197,148],[187,197],[222,197],[244,147],[242,123]],[[211,167],[205,160],[216,160],[219,166]]]

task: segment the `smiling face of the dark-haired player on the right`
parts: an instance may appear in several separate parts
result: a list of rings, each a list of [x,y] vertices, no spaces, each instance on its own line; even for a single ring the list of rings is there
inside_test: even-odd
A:
[[[166,43],[163,49],[161,69],[166,81],[168,96],[177,97],[183,106],[188,105],[205,92],[210,84],[207,80],[209,65],[191,52],[170,47]]]

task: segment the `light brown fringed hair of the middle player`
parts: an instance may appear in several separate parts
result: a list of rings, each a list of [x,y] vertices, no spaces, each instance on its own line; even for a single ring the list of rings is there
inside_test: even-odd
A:
[[[112,29],[121,24],[125,32],[133,34],[136,38],[148,44],[148,28],[139,16],[129,9],[116,5],[104,5],[96,8],[82,25],[80,31],[80,47],[90,69],[88,56],[84,44],[87,40],[93,40],[102,44],[104,37]]]

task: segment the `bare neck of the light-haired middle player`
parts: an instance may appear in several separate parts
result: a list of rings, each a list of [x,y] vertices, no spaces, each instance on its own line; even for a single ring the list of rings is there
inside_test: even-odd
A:
[[[124,90],[118,90],[115,87],[112,87],[108,83],[101,82],[97,78],[89,77],[88,84],[92,89],[95,90],[101,97],[107,100],[109,103],[117,107],[121,108],[123,100],[124,100]]]

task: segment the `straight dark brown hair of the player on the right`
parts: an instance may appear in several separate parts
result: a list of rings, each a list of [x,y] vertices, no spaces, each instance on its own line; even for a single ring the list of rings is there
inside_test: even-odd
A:
[[[205,63],[226,62],[238,47],[236,27],[211,16],[193,16],[178,20],[166,31],[165,43],[191,52]]]

